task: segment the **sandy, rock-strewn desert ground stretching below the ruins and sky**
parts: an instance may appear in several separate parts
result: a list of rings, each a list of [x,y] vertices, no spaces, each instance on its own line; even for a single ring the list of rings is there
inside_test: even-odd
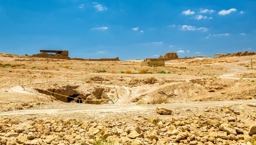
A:
[[[0,144],[253,145],[250,58],[156,67],[0,54]]]

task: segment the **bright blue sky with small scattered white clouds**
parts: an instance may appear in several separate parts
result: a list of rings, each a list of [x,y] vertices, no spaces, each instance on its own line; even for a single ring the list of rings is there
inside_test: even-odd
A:
[[[121,60],[256,51],[255,0],[0,0],[0,52]]]

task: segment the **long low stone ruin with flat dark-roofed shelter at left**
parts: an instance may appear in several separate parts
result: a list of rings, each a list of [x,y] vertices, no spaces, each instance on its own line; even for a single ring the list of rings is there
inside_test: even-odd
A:
[[[25,56],[29,56],[29,55],[25,54]],[[119,61],[119,57],[117,57],[117,58],[100,58],[100,59],[70,58],[68,56],[67,50],[40,50],[40,54],[33,54],[30,57],[58,58],[58,59],[68,59],[68,60],[90,60],[90,61]]]

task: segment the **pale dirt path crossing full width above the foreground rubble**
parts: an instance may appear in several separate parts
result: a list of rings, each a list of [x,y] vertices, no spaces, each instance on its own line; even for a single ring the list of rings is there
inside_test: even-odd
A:
[[[25,114],[72,114],[72,113],[90,113],[90,112],[136,112],[153,110],[156,107],[165,108],[191,108],[191,107],[209,107],[225,105],[243,105],[256,104],[254,100],[237,100],[237,101],[215,101],[215,102],[192,102],[192,103],[171,103],[161,105],[89,105],[82,104],[79,107],[63,107],[51,109],[28,109],[20,111],[0,112],[0,116],[8,115],[25,115]]]

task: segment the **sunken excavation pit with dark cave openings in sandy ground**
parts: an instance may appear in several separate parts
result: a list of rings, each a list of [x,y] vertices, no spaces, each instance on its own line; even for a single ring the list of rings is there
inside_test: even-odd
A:
[[[109,102],[108,94],[110,93],[110,88],[108,87],[76,85],[76,83],[63,85],[49,83],[43,85],[42,89],[34,89],[39,93],[49,95],[65,103],[106,104]]]

